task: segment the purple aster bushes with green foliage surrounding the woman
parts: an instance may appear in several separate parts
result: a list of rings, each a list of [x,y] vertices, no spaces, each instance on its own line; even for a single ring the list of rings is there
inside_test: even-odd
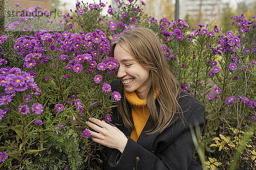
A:
[[[104,147],[90,141],[84,122],[111,121],[120,94],[111,91],[119,64],[106,57],[109,43],[139,25],[155,31],[180,87],[205,105],[204,158],[198,150],[195,159],[204,169],[255,169],[255,17],[233,16],[237,31],[222,32],[215,21],[191,28],[186,20],[149,17],[143,1],[115,3],[76,3],[58,21],[60,33],[0,33],[0,167],[106,167]]]

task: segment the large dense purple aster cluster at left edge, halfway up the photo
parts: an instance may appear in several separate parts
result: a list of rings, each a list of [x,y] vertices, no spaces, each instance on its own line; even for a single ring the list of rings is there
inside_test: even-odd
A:
[[[20,68],[0,68],[0,86],[5,89],[5,94],[0,97],[0,105],[8,105],[16,92],[32,89],[35,95],[41,93],[34,78]]]

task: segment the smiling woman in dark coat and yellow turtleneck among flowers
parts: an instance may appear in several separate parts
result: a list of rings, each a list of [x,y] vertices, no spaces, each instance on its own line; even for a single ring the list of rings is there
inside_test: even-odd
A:
[[[136,27],[111,44],[119,62],[111,89],[121,94],[113,124],[90,119],[93,141],[108,151],[108,170],[202,170],[190,127],[204,128],[204,105],[182,91],[151,29]],[[100,127],[99,127],[99,126]]]

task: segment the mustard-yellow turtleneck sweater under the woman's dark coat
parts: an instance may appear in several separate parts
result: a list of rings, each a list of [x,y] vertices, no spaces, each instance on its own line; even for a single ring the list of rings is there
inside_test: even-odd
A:
[[[133,92],[127,92],[125,91],[125,97],[128,100],[128,102],[133,105],[131,110],[132,119],[134,122],[134,128],[131,131],[131,139],[133,139],[135,142],[137,142],[140,133],[142,132],[144,126],[146,125],[148,121],[148,117],[150,115],[148,111],[148,106],[146,99],[142,100],[140,99],[135,91]],[[159,92],[159,91],[157,91]],[[158,93],[154,94],[154,99],[156,99]],[[144,108],[143,108],[144,105]]]

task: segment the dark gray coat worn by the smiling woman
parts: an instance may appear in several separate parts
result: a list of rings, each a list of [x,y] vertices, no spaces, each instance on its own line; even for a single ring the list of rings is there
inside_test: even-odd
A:
[[[118,91],[120,80],[111,83],[113,91]],[[149,129],[150,116],[141,132],[137,142],[130,138],[131,129],[124,126],[116,127],[128,138],[123,153],[117,149],[107,147],[108,170],[133,170],[136,165],[136,157],[140,158],[138,170],[203,170],[201,165],[193,159],[195,145],[189,125],[199,125],[204,128],[204,105],[190,94],[181,91],[178,103],[183,111],[183,122],[180,116],[174,116],[172,122],[162,131],[146,135]],[[156,102],[159,110],[159,103]],[[129,108],[131,110],[131,108]],[[113,117],[117,109],[113,109]],[[112,122],[114,125],[116,122]],[[116,164],[116,162],[118,164]]]

